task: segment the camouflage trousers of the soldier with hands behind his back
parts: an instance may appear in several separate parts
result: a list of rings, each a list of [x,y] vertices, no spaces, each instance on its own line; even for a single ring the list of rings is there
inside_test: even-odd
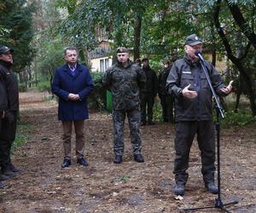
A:
[[[113,110],[113,152],[123,155],[125,115],[127,114],[133,154],[141,153],[140,135],[141,112],[139,110]]]

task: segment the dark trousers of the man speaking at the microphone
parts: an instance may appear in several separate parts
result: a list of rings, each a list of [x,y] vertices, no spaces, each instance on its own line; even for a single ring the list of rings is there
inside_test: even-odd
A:
[[[176,182],[186,184],[189,153],[195,134],[201,150],[201,173],[204,181],[214,181],[215,134],[212,121],[181,121],[176,124],[174,174]],[[213,180],[212,180],[213,179]]]

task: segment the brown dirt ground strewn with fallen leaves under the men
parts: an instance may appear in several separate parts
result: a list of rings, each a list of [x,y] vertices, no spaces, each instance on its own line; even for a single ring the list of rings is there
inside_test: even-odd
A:
[[[170,124],[142,128],[144,164],[132,159],[128,127],[122,164],[113,164],[112,119],[90,113],[84,130],[87,137],[82,168],[73,157],[70,168],[61,170],[63,150],[56,103],[44,94],[21,93],[20,117],[29,135],[19,147],[14,163],[22,173],[7,181],[0,191],[0,212],[180,212],[178,208],[214,204],[201,180],[200,153],[194,143],[189,181],[183,200],[174,199],[173,137]],[[232,212],[256,212],[256,125],[222,131],[222,199],[239,204]],[[217,209],[197,212],[219,212]]]

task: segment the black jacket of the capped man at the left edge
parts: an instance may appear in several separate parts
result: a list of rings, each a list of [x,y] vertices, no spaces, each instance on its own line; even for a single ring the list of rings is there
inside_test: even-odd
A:
[[[12,72],[10,65],[3,61],[0,61],[0,74],[3,76],[7,90],[8,109],[10,111],[17,111],[19,110],[19,89],[15,74]]]

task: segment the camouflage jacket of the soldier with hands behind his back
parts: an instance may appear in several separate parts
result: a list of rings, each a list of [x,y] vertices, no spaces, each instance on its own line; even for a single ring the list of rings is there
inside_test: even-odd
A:
[[[140,89],[146,82],[140,66],[128,62],[127,66],[117,63],[105,72],[102,83],[113,95],[113,110],[140,108]]]

